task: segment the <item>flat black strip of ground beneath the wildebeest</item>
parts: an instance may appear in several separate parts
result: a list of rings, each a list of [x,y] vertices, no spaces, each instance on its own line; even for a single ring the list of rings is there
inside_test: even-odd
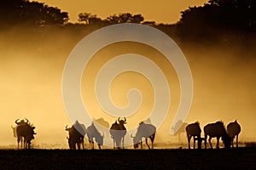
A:
[[[0,150],[0,169],[256,169],[256,149]]]

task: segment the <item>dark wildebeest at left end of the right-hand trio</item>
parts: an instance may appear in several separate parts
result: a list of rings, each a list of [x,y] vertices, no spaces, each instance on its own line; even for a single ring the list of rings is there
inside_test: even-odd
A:
[[[201,149],[201,127],[199,122],[194,122],[189,124],[186,127],[186,133],[188,137],[189,149],[190,149],[190,139],[193,137],[194,139],[194,149],[195,149],[195,140],[197,140],[197,148]]]

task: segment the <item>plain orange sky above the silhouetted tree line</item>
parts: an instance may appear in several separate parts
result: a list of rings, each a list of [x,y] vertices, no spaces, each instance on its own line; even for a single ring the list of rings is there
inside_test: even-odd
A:
[[[145,20],[157,23],[175,23],[180,18],[180,12],[189,6],[201,6],[207,0],[130,0],[130,1],[99,1],[99,0],[38,0],[49,6],[61,8],[67,11],[71,22],[78,21],[79,13],[96,14],[105,19],[111,14],[129,12],[132,14],[143,14]]]

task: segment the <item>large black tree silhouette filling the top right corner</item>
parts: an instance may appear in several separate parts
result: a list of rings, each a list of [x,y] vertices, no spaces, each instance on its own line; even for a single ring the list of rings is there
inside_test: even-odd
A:
[[[256,5],[253,0],[210,0],[202,7],[181,12],[177,23],[179,36],[185,39],[229,41],[236,33],[244,39],[256,33]]]

